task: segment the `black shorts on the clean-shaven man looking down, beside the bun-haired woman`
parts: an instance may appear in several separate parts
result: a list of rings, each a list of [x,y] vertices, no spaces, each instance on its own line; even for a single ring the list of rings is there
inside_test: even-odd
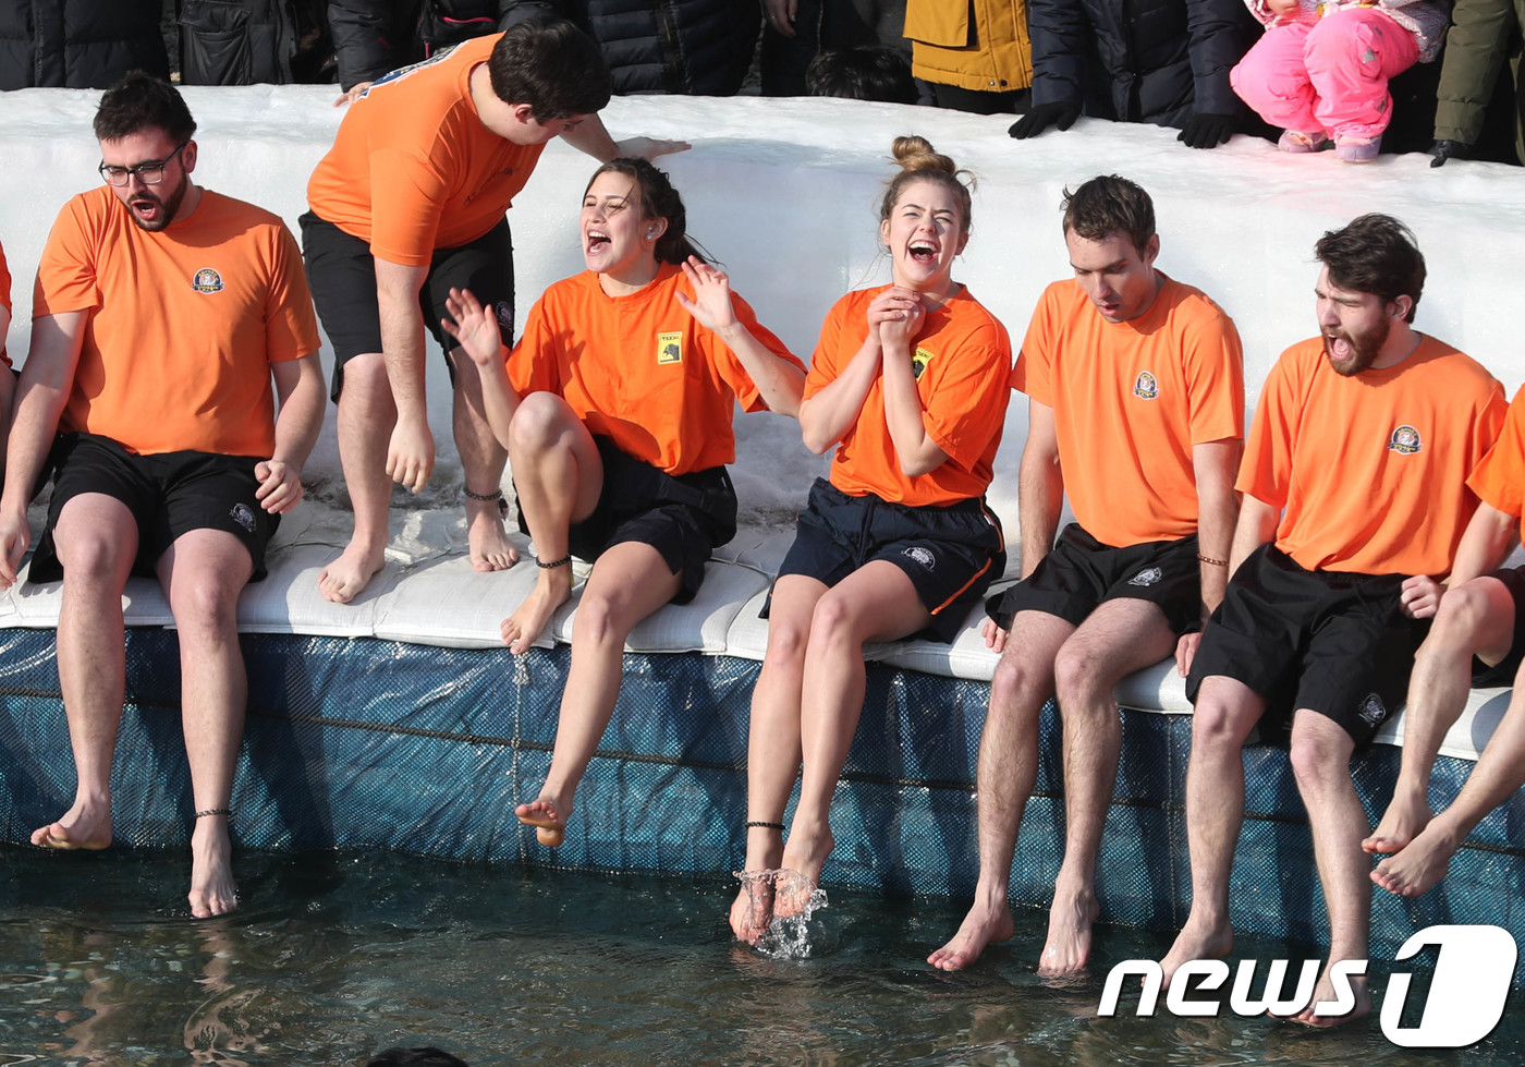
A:
[[[985,614],[1005,630],[1019,611],[1040,611],[1080,626],[1103,601],[1119,597],[1159,604],[1177,637],[1200,629],[1197,536],[1113,548],[1072,522],[1025,582],[985,603]]]

